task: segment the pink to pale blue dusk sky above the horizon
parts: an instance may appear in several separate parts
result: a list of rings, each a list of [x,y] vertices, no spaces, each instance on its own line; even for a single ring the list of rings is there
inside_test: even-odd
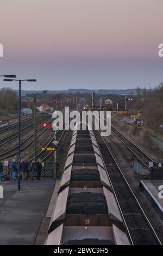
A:
[[[30,90],[155,87],[162,10],[162,0],[1,0],[0,75],[37,79],[22,84]]]

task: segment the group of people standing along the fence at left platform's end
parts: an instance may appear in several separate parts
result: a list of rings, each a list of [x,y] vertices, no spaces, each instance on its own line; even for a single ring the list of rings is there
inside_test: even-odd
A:
[[[41,170],[42,170],[41,159],[37,159],[36,163],[34,160],[31,163],[28,163],[26,160],[21,159],[20,168],[21,168],[22,180],[27,180],[27,179],[34,180],[35,174],[38,180],[41,179]],[[10,169],[10,179],[15,180],[16,173],[18,170],[18,164],[16,163],[15,159],[12,159],[9,169]],[[2,180],[2,173],[3,173],[3,164],[0,161],[0,181]]]

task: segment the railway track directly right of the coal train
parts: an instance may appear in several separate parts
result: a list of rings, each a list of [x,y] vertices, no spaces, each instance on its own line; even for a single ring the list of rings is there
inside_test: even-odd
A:
[[[104,137],[101,136],[99,131],[93,132],[133,244],[162,245],[151,222],[123,175],[120,166],[118,166],[118,163],[112,155],[108,143],[105,141]]]

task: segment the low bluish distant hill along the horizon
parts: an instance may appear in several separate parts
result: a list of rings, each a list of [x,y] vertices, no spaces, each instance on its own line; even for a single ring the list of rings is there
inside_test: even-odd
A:
[[[96,89],[95,89],[96,90]],[[68,89],[68,90],[47,90],[47,93],[49,94],[70,94],[70,93],[89,93],[91,94],[95,90],[89,90],[89,89]],[[143,90],[143,89],[141,89]],[[18,90],[16,90],[18,93]],[[26,94],[35,94],[35,93],[42,93],[43,90],[22,90],[21,94],[22,96],[25,96]],[[134,89],[99,89],[98,94],[118,94],[118,95],[128,95],[128,94],[136,94],[136,88]]]

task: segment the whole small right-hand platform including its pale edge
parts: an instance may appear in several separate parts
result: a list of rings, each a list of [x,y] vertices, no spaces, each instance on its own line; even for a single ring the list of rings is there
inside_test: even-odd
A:
[[[163,180],[141,180],[140,187],[163,219]]]

